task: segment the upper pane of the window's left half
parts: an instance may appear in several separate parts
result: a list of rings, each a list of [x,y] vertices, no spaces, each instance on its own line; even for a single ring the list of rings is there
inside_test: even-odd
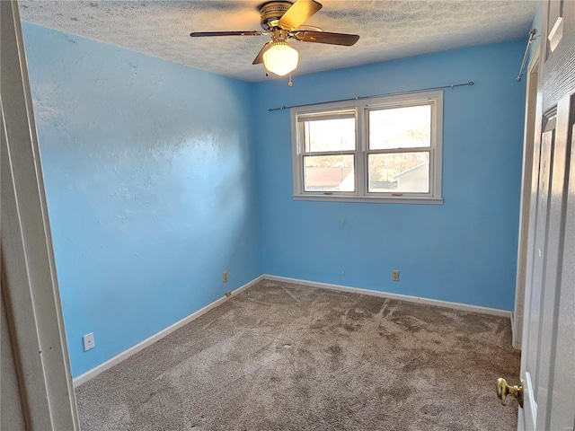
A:
[[[305,121],[305,153],[356,149],[356,119]]]

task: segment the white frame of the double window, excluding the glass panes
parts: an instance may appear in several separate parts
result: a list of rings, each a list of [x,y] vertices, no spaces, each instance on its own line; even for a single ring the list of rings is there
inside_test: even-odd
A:
[[[403,108],[429,104],[431,106],[430,146],[425,148],[400,148],[368,150],[369,110]],[[305,191],[304,156],[305,142],[300,138],[298,117],[321,115],[333,110],[354,110],[356,118],[356,150],[342,154],[355,154],[355,191]],[[417,92],[395,96],[382,96],[363,101],[337,101],[320,103],[290,110],[294,200],[324,200],[338,202],[381,202],[403,204],[443,204],[441,196],[442,143],[443,143],[443,91]],[[428,193],[369,192],[367,188],[367,154],[402,153],[418,150],[429,151]],[[338,152],[339,154],[339,152]]]

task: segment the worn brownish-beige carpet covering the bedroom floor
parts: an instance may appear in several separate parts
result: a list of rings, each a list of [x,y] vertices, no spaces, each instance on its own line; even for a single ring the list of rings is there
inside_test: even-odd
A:
[[[262,281],[76,390],[83,431],[515,430],[508,319]]]

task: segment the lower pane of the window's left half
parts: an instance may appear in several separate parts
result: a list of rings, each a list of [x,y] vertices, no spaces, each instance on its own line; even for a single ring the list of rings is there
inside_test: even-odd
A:
[[[304,157],[305,191],[355,191],[352,154]]]

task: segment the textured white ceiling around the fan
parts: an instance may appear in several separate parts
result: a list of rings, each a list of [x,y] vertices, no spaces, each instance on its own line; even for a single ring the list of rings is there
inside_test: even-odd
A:
[[[355,33],[353,47],[295,41],[296,75],[525,38],[533,0],[320,0],[305,24]],[[190,31],[260,31],[261,0],[20,2],[23,21],[246,81],[266,79],[252,60],[270,36],[190,38]]]

